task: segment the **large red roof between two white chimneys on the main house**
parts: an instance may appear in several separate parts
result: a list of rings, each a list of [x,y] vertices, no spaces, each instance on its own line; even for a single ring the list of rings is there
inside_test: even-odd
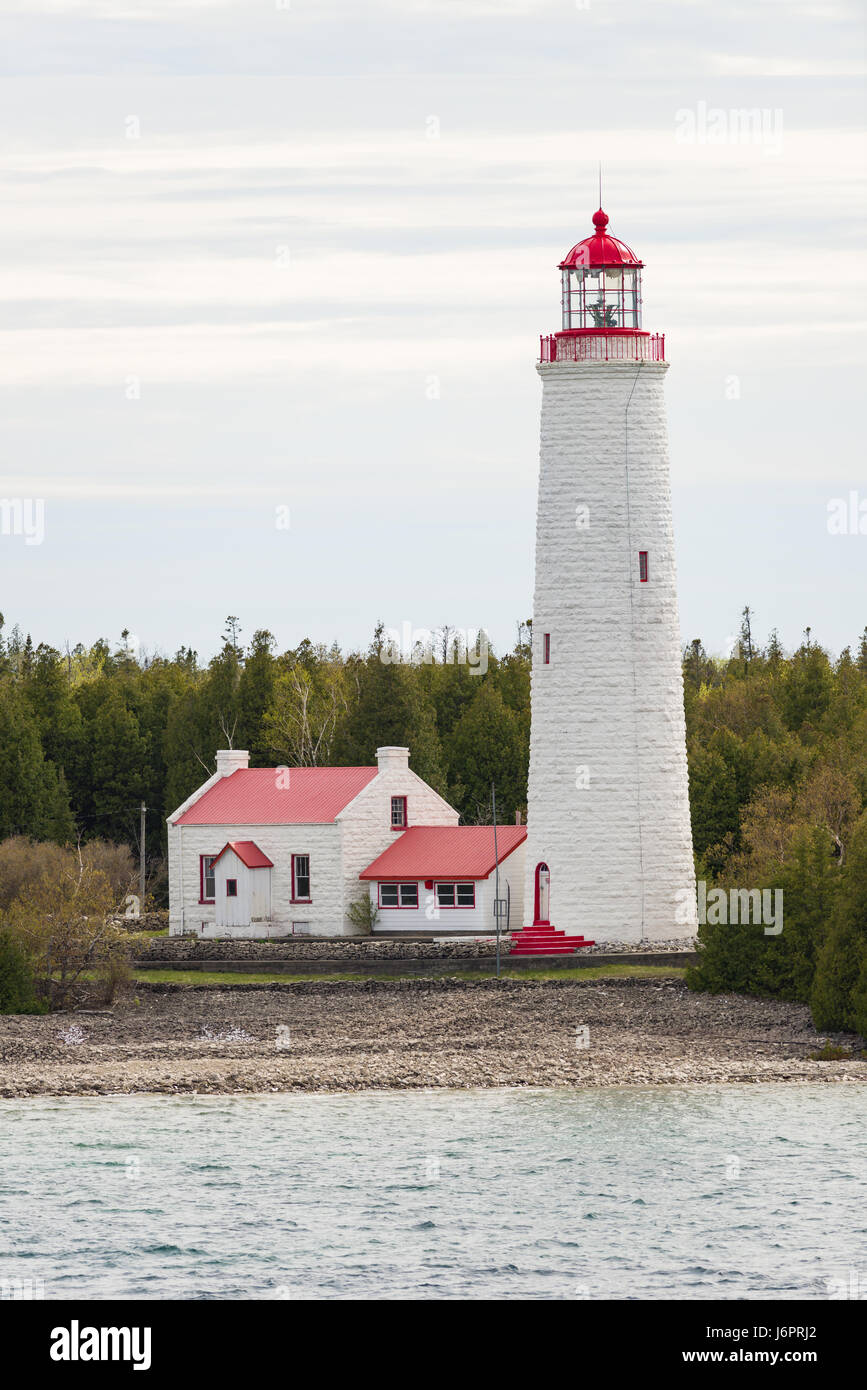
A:
[[[174,824],[327,824],[378,771],[378,767],[239,767],[221,777]]]

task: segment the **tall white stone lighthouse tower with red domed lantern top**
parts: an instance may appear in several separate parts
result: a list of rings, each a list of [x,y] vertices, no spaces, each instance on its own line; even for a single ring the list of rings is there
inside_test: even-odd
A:
[[[695,873],[664,338],[609,235],[560,263],[542,338],[524,922],[597,942],[689,940]]]

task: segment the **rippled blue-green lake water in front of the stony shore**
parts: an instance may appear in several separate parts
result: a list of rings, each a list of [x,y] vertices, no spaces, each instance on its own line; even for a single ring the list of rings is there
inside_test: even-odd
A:
[[[864,1297],[866,1119],[857,1084],[0,1101],[0,1282]]]

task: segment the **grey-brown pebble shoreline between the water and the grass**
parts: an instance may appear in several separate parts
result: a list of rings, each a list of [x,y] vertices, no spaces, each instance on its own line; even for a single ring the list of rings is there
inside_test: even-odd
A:
[[[110,1011],[0,1017],[0,1095],[867,1081],[813,1061],[803,1005],[679,980],[138,987]]]

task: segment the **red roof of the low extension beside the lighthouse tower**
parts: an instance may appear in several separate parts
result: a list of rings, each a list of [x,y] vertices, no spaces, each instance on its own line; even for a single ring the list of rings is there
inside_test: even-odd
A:
[[[527,840],[527,826],[497,826],[500,862]],[[493,826],[410,826],[358,878],[486,878]]]

